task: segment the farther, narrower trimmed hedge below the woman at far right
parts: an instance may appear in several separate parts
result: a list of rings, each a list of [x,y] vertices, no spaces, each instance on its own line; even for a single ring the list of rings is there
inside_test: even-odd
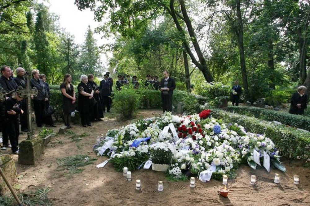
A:
[[[288,124],[292,127],[310,130],[310,117],[294,115],[285,111],[274,111],[259,107],[229,106],[228,111],[238,113],[240,115],[253,116],[267,121],[278,121],[282,124]]]

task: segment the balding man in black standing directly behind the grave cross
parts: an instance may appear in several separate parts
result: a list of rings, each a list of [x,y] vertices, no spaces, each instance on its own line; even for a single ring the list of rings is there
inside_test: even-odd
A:
[[[26,80],[25,80],[25,69],[22,67],[16,68],[16,77],[14,78],[14,81],[18,86],[23,87],[23,89],[26,89]],[[24,111],[23,114],[20,113],[20,125],[21,125],[21,131],[28,132],[28,125],[27,125],[27,103],[26,99],[23,99],[21,101],[21,108]]]

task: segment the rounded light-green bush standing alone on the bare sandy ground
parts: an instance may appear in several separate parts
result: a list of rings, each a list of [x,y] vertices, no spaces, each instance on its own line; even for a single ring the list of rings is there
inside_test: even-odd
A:
[[[115,92],[113,98],[113,107],[115,111],[121,114],[124,120],[131,119],[139,106],[139,95],[133,87],[124,87]]]

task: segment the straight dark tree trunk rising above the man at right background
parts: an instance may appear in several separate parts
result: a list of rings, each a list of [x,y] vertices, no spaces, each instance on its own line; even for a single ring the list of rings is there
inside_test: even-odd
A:
[[[238,39],[241,75],[242,75],[244,92],[246,96],[248,96],[247,94],[249,93],[249,86],[248,86],[248,77],[247,77],[247,72],[246,72],[246,60],[244,56],[244,47],[243,47],[243,24],[242,24],[241,10],[240,10],[240,0],[237,0],[236,3],[237,3],[237,23],[238,23],[238,29],[237,29],[236,35]]]

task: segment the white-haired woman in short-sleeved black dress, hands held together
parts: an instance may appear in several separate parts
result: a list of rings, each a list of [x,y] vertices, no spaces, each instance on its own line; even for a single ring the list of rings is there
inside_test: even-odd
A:
[[[80,112],[82,126],[91,127],[90,107],[93,101],[94,90],[87,83],[88,79],[85,74],[81,75],[80,80],[81,83],[78,84],[78,111]]]

